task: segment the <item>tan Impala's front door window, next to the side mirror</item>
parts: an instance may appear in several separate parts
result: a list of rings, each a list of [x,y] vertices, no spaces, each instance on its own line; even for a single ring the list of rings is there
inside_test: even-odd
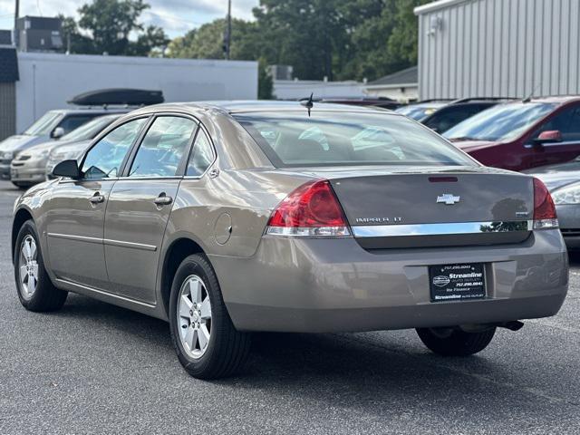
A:
[[[122,124],[92,147],[82,163],[84,179],[107,179],[119,176],[121,163],[139,136],[146,118]]]

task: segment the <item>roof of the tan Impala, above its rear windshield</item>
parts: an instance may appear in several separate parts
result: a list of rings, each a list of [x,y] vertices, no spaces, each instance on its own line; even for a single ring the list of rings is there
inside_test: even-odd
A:
[[[348,104],[335,104],[331,102],[314,102],[313,111],[324,108],[324,111],[363,111],[369,113],[392,113],[374,106],[353,106]],[[305,111],[306,108],[300,102],[280,102],[269,100],[257,101],[208,101],[208,102],[172,102],[147,106],[140,112],[150,111],[199,111],[217,110],[230,114],[252,111]],[[322,110],[322,109],[321,109]]]

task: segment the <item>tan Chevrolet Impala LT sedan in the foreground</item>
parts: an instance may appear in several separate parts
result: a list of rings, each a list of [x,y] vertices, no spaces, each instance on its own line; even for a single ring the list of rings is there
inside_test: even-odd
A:
[[[115,121],[16,201],[21,303],[55,310],[75,292],[169,321],[179,362],[206,379],[240,369],[251,331],[417,328],[465,356],[556,314],[567,256],[541,181],[395,112],[303,104]]]

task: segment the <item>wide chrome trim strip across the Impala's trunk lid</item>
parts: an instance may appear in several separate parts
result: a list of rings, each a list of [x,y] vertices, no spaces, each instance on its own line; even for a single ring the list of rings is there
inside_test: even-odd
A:
[[[510,229],[513,227],[514,229]],[[354,226],[354,237],[449,236],[456,234],[485,234],[531,231],[532,220],[501,222],[453,222],[445,224],[366,225]]]

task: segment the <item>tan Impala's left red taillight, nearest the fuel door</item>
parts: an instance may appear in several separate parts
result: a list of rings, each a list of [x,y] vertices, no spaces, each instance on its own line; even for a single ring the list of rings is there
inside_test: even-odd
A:
[[[333,188],[326,179],[310,181],[288,195],[268,221],[266,234],[296,237],[350,236]]]

